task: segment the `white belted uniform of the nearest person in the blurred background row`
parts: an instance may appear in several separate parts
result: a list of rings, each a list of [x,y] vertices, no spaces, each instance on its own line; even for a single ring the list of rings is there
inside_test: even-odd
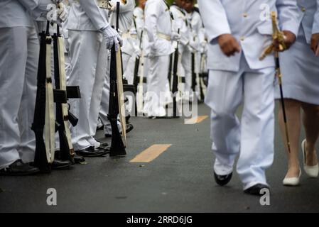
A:
[[[171,14],[164,0],[148,0],[145,6],[144,51],[148,57],[147,93],[144,103],[146,116],[165,116],[168,99],[169,55],[171,43]]]

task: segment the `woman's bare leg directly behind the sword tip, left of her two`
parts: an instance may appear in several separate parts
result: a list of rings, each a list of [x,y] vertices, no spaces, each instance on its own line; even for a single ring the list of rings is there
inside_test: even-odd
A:
[[[289,131],[289,140],[291,143],[291,153],[288,153],[288,145],[286,140],[285,124],[283,121],[283,111],[279,109],[279,126],[281,129],[281,138],[288,155],[288,171],[286,177],[298,177],[299,175],[299,137],[301,132],[301,102],[294,99],[285,99],[285,108],[287,115],[287,124]]]

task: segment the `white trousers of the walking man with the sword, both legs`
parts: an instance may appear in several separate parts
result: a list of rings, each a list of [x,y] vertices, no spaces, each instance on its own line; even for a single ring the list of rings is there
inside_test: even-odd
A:
[[[244,189],[266,184],[274,159],[274,68],[250,70],[242,55],[239,72],[210,70],[206,104],[212,109],[212,151],[217,175],[237,172]],[[235,112],[243,103],[242,121]]]

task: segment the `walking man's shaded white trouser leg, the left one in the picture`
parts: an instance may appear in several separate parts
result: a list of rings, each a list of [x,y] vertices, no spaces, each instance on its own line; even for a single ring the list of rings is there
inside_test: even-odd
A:
[[[232,172],[239,153],[240,128],[235,114],[242,101],[242,72],[210,70],[206,104],[211,112],[212,151],[217,175]]]

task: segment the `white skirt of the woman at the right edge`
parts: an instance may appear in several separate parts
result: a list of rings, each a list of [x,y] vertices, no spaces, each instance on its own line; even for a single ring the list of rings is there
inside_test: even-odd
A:
[[[280,54],[280,63],[284,98],[319,105],[319,57],[306,43],[302,27],[296,43]],[[279,86],[275,97],[280,99]]]

